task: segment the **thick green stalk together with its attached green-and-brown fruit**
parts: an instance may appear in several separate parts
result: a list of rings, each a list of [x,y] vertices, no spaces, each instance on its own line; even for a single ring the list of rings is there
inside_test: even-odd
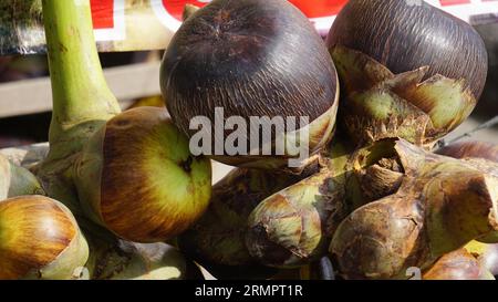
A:
[[[180,233],[207,208],[210,162],[190,155],[165,110],[121,113],[98,62],[89,0],[45,0],[43,10],[53,115],[39,177],[48,194],[131,241]]]

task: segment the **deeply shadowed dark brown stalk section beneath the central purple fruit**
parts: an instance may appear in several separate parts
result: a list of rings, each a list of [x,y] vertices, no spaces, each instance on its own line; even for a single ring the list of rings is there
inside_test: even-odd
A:
[[[268,196],[298,183],[301,176],[237,168],[218,181],[206,214],[178,239],[181,250],[218,279],[271,274],[249,254],[248,218]],[[243,271],[241,275],[237,271]]]

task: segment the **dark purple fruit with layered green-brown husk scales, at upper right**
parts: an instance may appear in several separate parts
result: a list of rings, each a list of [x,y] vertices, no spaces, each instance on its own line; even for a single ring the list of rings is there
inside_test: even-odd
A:
[[[341,82],[341,125],[357,144],[426,147],[473,112],[487,52],[466,22],[425,1],[351,0],[326,43]]]

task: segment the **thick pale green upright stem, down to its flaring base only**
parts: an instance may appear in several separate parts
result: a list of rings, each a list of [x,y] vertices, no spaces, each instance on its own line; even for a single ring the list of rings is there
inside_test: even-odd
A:
[[[43,0],[53,92],[50,142],[85,122],[120,112],[107,87],[93,35],[90,0]]]

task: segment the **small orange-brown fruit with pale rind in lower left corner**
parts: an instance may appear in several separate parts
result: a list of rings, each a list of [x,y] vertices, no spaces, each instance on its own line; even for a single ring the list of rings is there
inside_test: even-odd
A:
[[[0,204],[0,279],[72,279],[89,257],[69,209],[42,196]]]

